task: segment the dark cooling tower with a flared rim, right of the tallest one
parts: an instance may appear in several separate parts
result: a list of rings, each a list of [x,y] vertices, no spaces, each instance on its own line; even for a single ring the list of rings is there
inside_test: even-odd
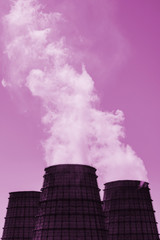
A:
[[[103,209],[107,240],[159,240],[148,183],[106,183]]]

